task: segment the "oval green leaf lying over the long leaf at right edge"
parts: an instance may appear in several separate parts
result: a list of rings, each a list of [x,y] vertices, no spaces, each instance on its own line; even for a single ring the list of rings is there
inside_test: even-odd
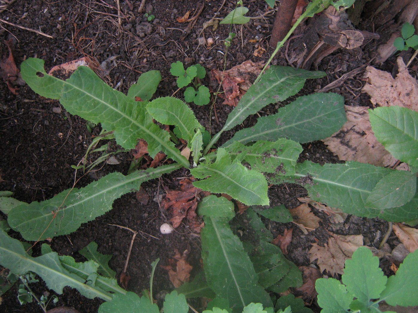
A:
[[[416,173],[395,171],[380,179],[366,200],[366,207],[390,209],[408,203],[416,192]]]

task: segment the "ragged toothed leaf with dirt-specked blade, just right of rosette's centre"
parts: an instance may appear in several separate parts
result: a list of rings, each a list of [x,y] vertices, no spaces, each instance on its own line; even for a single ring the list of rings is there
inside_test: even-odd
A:
[[[274,142],[259,140],[250,146],[235,141],[227,151],[237,160],[249,163],[251,169],[258,172],[293,175],[303,149],[296,141],[279,138]]]

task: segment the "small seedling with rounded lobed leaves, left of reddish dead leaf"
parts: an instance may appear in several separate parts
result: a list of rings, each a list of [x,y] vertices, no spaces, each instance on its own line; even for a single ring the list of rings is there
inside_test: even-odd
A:
[[[188,103],[194,102],[198,106],[204,106],[209,103],[210,92],[209,88],[201,85],[197,79],[203,79],[206,76],[206,70],[200,64],[189,66],[184,70],[183,63],[177,61],[171,63],[170,73],[177,76],[178,88],[183,88],[193,83],[194,87],[187,87],[184,91],[184,100]]]

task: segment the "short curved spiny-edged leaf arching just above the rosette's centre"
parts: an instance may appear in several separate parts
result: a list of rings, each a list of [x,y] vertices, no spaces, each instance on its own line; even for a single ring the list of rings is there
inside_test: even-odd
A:
[[[181,138],[188,142],[193,139],[197,129],[203,129],[189,106],[178,98],[157,98],[147,104],[147,110],[161,124],[175,125],[181,132]]]

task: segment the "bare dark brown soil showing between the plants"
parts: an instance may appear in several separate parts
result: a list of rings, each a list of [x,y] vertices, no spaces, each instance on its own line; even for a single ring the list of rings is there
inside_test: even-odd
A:
[[[0,14],[1,19],[33,30],[41,30],[52,35],[54,39],[6,24],[2,24],[1,39],[3,42],[14,38],[14,58],[18,67],[28,57],[45,60],[45,68],[48,71],[52,66],[83,56],[89,56],[99,63],[114,56],[115,62],[111,63],[110,72],[105,73],[103,79],[124,93],[136,82],[140,73],[159,70],[163,81],[155,96],[172,95],[177,87],[169,69],[175,61],[182,61],[185,66],[200,63],[208,72],[212,69],[222,70],[225,53],[223,40],[227,38],[229,28],[220,25],[216,30],[212,30],[203,29],[202,26],[214,16],[222,1],[148,0],[143,13],[151,12],[155,15],[155,19],[150,22],[144,18],[143,13],[138,13],[140,2],[130,0],[134,6],[131,10],[127,2],[120,1],[123,16],[119,25],[116,1],[14,1]],[[204,4],[204,10],[185,40],[181,40],[182,30],[187,27],[187,23],[178,23],[176,18],[188,10],[192,10],[193,14],[199,3]],[[227,69],[246,60],[267,61],[273,51],[268,46],[271,27],[256,26],[254,23],[273,24],[274,11],[268,9],[263,0],[247,0],[245,5],[250,9],[248,16],[263,15],[264,20],[251,20],[242,26],[232,26],[232,31],[237,33],[237,36],[227,52]],[[224,17],[233,8],[234,1],[226,1],[219,11],[219,16]],[[364,23],[364,27],[371,26]],[[204,44],[204,39],[209,37],[215,40],[211,48]],[[257,44],[265,48],[267,53],[261,57],[254,56],[256,43],[252,43],[250,39],[258,40]],[[312,93],[334,81],[342,73],[366,64],[375,53],[375,46],[375,41],[369,40],[360,48],[337,50],[327,56],[319,64],[319,70],[325,71],[328,76],[308,81],[298,96]],[[7,57],[8,49],[3,43],[2,51],[3,56]],[[273,64],[288,65],[284,52],[278,53]],[[348,105],[368,106],[369,98],[359,92],[363,83],[361,75],[360,73],[332,91],[342,94]],[[204,84],[209,86],[209,76],[204,79]],[[179,92],[179,96],[182,92]],[[92,136],[99,134],[100,126],[96,126],[90,133],[86,121],[78,116],[71,116],[63,108],[61,113],[54,113],[52,109],[60,107],[59,102],[39,97],[27,85],[21,86],[18,95],[14,95],[6,83],[0,83],[0,103],[0,190],[12,191],[16,199],[32,202],[49,199],[64,189],[71,188],[75,179],[75,171],[71,165],[79,164],[92,142]],[[216,107],[191,105],[199,122],[213,134],[222,128],[229,112],[232,111],[231,107],[221,103],[222,100],[218,99]],[[260,115],[274,113],[279,105],[286,103],[288,101],[270,105],[263,109]],[[249,117],[243,125],[223,134],[219,142],[222,144],[227,141],[237,129],[255,124],[256,118],[257,116]],[[110,151],[117,149],[114,141],[109,141],[108,147]],[[309,159],[321,164],[339,162],[320,141],[304,144],[303,147],[300,161]],[[94,161],[98,156],[99,153],[90,154],[87,162]],[[127,174],[132,155],[119,153],[115,157],[119,164],[100,164],[94,175],[82,177],[82,174],[78,174],[76,178],[82,178],[76,187],[83,187],[110,172]],[[128,286],[130,291],[139,294],[143,289],[149,288],[150,264],[159,257],[160,265],[168,265],[168,258],[175,254],[176,249],[181,253],[185,250],[189,252],[188,262],[194,266],[191,274],[195,275],[201,269],[199,235],[192,233],[187,225],[181,225],[170,235],[162,235],[159,231],[160,225],[170,219],[171,213],[160,207],[158,199],[164,197],[165,188],[179,189],[178,177],[188,175],[187,170],[178,170],[164,175],[161,179],[144,183],[143,188],[150,197],[148,204],[141,204],[135,193],[126,194],[115,201],[113,210],[107,214],[83,224],[70,235],[53,238],[49,242],[51,248],[60,255],[70,255],[77,261],[83,261],[85,259],[78,251],[89,242],[97,242],[100,252],[113,255],[110,267],[117,272],[119,278],[125,266],[132,232],[109,225],[116,224],[140,231],[133,244],[127,268],[127,273],[131,276]],[[273,186],[269,191],[272,205],[285,204],[288,208],[297,207],[300,204],[298,198],[304,196],[307,196],[305,189],[291,184]],[[5,215],[0,214],[0,219],[5,218]],[[271,222],[270,230],[276,236],[289,227],[290,224]],[[325,243],[329,237],[327,227],[328,225],[321,225],[308,235],[303,235],[295,227],[292,243],[288,247],[288,258],[298,266],[309,266],[310,244],[317,240]],[[385,233],[386,230],[387,223],[382,220],[349,216],[338,233],[362,234],[369,242],[374,242],[376,232]],[[10,234],[20,238],[16,232],[12,231]],[[33,255],[40,255],[40,244],[33,248]],[[48,290],[43,282],[31,287],[37,295],[42,295]],[[160,267],[155,272],[154,290],[157,300],[161,300],[168,291],[173,290],[166,270]],[[17,292],[15,285],[3,295],[1,312],[41,312],[41,308],[35,302],[19,305]],[[57,305],[71,306],[84,313],[97,312],[102,303],[102,300],[87,299],[70,288],[64,288],[64,293],[58,295],[58,298]],[[199,305],[196,303],[197,308]],[[312,308],[317,310],[315,302]]]

